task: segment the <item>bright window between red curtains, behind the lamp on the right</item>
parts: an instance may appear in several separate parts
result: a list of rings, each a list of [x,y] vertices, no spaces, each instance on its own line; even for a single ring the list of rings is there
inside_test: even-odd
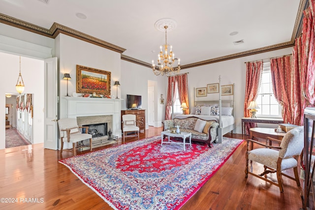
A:
[[[256,102],[260,107],[257,109],[257,117],[282,118],[282,108],[276,100],[272,88],[270,62],[264,63]]]

